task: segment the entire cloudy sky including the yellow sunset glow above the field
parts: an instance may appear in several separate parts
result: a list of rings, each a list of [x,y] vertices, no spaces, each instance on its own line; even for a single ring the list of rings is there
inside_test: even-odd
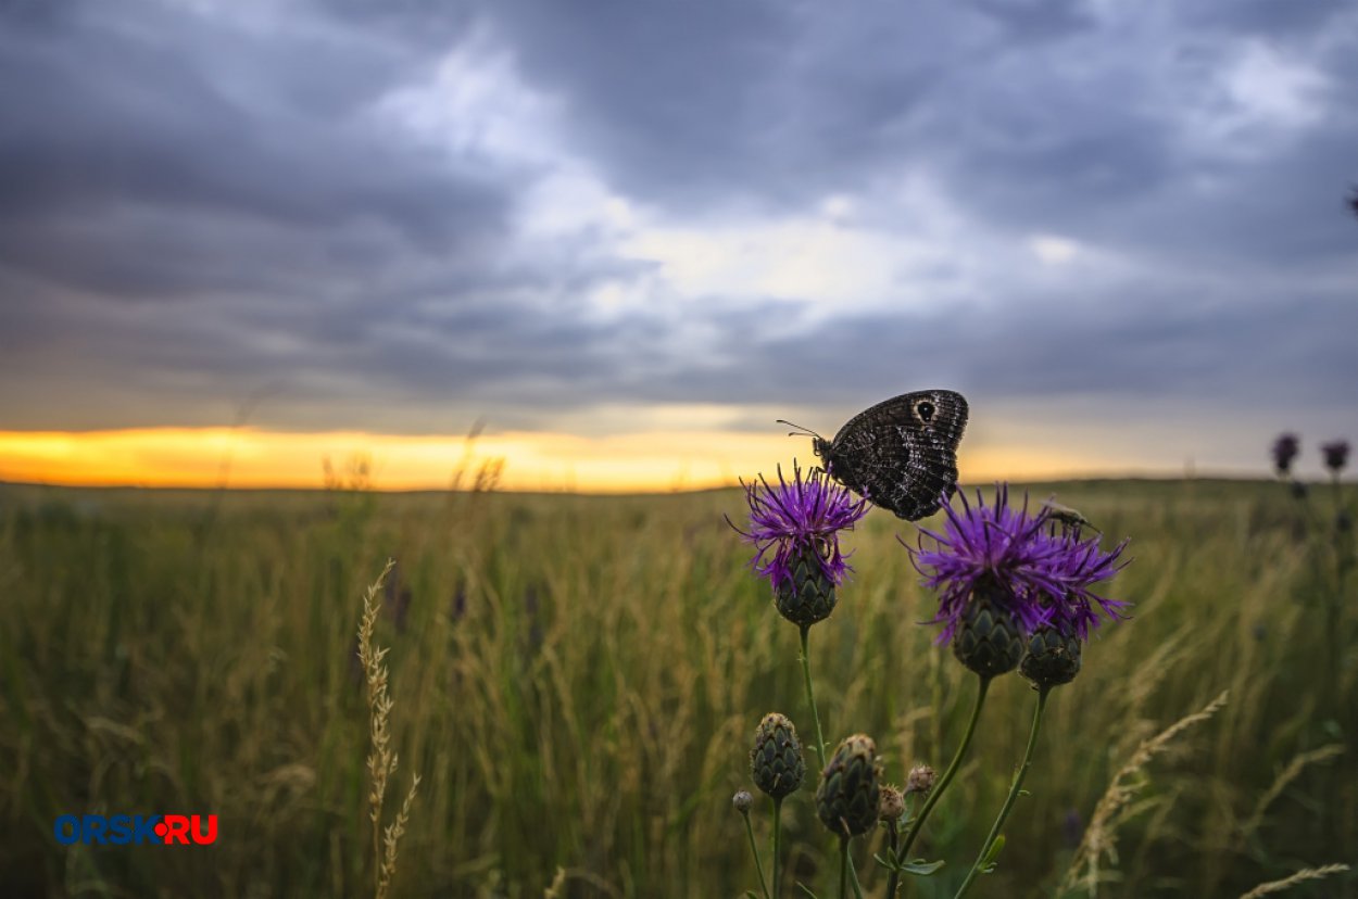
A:
[[[963,479],[1358,437],[1342,0],[3,0],[0,479]]]

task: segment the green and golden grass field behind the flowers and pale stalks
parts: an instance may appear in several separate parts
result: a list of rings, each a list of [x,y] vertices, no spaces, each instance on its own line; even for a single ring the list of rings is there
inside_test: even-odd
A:
[[[1358,861],[1358,574],[1336,598],[1328,486],[1032,485],[1135,561],[1080,678],[1052,694],[998,870],[976,896],[1062,889],[1138,744],[1206,706],[1130,778],[1100,896],[1238,896]],[[737,896],[758,888],[731,809],[769,710],[812,733],[797,630],[746,568],[736,490],[653,497],[0,488],[0,888],[7,896],[371,895],[368,712],[354,653],[384,561],[388,803],[422,778],[398,896]],[[1308,524],[1310,521],[1310,524]],[[873,512],[811,633],[826,739],[876,737],[887,778],[941,767],[975,676]],[[1348,532],[1348,546],[1353,546]],[[1332,657],[1338,653],[1338,659]],[[971,762],[918,846],[951,896],[1021,755],[1032,693],[995,682]],[[811,760],[813,769],[815,763]],[[789,880],[835,895],[811,790],[785,803]],[[767,804],[756,804],[760,839]],[[60,846],[64,813],[200,812],[212,846]],[[767,845],[763,843],[767,861]],[[876,846],[873,846],[876,849]],[[868,895],[885,877],[860,841]],[[1088,872],[1081,866],[1080,872]],[[1358,895],[1354,872],[1287,895]]]

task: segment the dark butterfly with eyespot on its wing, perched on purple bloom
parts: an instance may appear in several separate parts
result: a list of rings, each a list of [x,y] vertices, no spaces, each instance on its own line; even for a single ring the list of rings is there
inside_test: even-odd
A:
[[[917,521],[956,490],[957,444],[966,428],[961,394],[919,390],[860,411],[834,440],[807,433],[831,478],[896,517]]]

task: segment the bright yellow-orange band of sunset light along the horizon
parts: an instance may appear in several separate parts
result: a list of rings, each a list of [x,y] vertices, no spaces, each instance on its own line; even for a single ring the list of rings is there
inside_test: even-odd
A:
[[[445,489],[502,460],[509,490],[636,493],[729,486],[771,474],[793,458],[813,462],[804,440],[784,433],[648,430],[580,436],[507,432],[474,440],[447,435],[356,430],[291,433],[255,428],[136,428],[92,432],[0,432],[0,479],[69,486],[319,488],[329,460],[371,462],[379,490]],[[1107,460],[1054,458],[1043,450],[964,448],[966,481],[1047,479],[1107,471]]]

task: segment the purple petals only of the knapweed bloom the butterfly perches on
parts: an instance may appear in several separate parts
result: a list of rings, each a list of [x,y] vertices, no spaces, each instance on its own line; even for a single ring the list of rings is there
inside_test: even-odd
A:
[[[750,504],[750,531],[731,524],[746,540],[755,545],[750,565],[769,579],[774,591],[792,585],[793,559],[811,551],[820,570],[835,585],[843,583],[849,564],[839,551],[839,531],[853,530],[858,519],[868,513],[868,502],[854,502],[847,488],[812,469],[801,477],[801,469],[792,463],[792,483],[778,469],[777,486],[763,475],[755,483],[744,483]]]

